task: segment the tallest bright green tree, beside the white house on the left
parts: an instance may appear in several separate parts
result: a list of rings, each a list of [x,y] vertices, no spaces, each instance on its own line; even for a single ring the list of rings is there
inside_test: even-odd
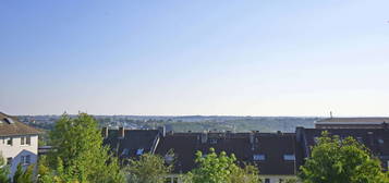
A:
[[[98,123],[90,115],[80,113],[72,119],[63,114],[50,132],[49,141],[56,148],[47,159],[48,167],[53,171],[45,179],[66,183],[125,182],[118,159],[109,154],[108,147],[102,146]]]

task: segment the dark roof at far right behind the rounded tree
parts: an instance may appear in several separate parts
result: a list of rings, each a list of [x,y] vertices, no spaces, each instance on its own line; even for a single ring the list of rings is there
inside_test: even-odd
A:
[[[387,163],[389,160],[389,130],[388,129],[303,129],[297,127],[297,144],[305,152],[304,157],[311,155],[311,147],[315,143],[315,137],[321,136],[321,132],[327,131],[330,135],[338,135],[341,138],[352,136],[363,143],[372,154]],[[302,162],[300,162],[302,163]],[[387,167],[382,164],[384,167]]]

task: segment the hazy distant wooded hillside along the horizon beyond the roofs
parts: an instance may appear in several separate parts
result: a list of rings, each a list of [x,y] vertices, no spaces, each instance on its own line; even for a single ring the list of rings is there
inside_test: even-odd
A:
[[[34,126],[51,130],[61,115],[20,115]],[[75,117],[75,115],[72,115]],[[294,132],[296,126],[314,127],[316,117],[235,117],[235,115],[94,115],[100,126],[157,129],[166,126],[174,132]]]

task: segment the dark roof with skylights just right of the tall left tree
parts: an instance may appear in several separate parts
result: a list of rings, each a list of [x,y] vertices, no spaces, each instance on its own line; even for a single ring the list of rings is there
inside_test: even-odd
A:
[[[104,144],[109,145],[111,150],[123,160],[137,157],[137,152],[150,152],[158,136],[158,130],[124,130],[124,138],[120,138],[119,130],[109,130]]]

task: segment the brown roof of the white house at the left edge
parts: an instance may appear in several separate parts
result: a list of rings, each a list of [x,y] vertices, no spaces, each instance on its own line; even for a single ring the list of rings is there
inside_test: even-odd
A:
[[[16,117],[0,112],[0,136],[36,135],[42,133],[17,120]]]

